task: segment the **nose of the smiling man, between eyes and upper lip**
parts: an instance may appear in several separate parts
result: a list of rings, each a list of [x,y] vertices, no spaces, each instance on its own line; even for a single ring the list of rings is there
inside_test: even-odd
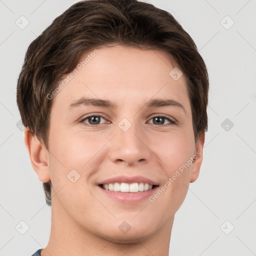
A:
[[[126,166],[145,164],[152,157],[149,137],[135,124],[126,131],[117,127],[109,148],[111,161]]]

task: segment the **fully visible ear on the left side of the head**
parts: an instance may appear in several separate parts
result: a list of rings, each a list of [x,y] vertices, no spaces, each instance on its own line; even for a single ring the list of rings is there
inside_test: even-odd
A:
[[[50,180],[48,150],[41,145],[37,137],[28,128],[24,129],[24,142],[38,179],[41,182],[48,182]]]

